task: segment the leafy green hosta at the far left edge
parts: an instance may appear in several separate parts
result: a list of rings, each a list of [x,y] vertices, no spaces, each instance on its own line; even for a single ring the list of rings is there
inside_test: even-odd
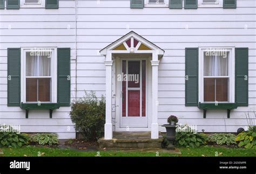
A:
[[[17,148],[29,144],[29,135],[21,134],[9,125],[2,125],[0,147]]]

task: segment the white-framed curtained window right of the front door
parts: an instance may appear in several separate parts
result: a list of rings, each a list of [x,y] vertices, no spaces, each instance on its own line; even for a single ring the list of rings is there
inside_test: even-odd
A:
[[[201,101],[204,103],[232,103],[234,99],[232,49],[202,49],[199,64],[201,65],[199,68]]]

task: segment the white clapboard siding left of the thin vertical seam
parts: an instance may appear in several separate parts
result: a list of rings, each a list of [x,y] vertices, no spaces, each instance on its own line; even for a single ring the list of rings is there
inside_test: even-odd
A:
[[[8,29],[11,28],[11,29]],[[70,47],[75,51],[75,2],[60,1],[59,9],[0,10],[0,125],[21,125],[22,132],[55,132],[60,139],[75,138],[70,107],[60,107],[49,118],[49,110],[31,110],[29,118],[19,107],[7,106],[7,48]],[[71,61],[71,83],[75,82]],[[71,85],[71,97],[75,96]]]

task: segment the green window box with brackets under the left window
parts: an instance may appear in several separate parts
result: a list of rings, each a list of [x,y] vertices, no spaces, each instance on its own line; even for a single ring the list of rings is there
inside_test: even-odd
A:
[[[56,110],[60,105],[58,103],[21,103],[21,108],[26,110],[26,118],[29,118],[29,110],[49,110],[52,118],[52,110]]]

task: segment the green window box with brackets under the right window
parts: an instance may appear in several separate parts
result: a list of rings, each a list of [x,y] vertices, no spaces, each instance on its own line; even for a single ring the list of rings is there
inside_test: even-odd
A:
[[[206,111],[211,109],[225,109],[227,110],[227,118],[230,118],[230,111],[237,108],[237,103],[200,103],[198,104],[198,108],[204,110],[204,118],[206,118]]]

